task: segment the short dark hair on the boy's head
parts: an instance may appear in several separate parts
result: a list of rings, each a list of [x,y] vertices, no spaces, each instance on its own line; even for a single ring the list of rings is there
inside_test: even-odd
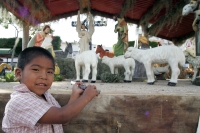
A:
[[[48,50],[42,47],[29,47],[24,49],[18,57],[17,67],[24,70],[24,67],[37,57],[47,57],[52,61],[53,68],[55,69],[55,61],[53,56]]]

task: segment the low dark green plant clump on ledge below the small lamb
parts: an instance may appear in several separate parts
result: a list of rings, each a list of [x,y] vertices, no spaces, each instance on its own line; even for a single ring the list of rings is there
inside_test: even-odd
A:
[[[118,74],[111,74],[109,72],[105,72],[101,74],[101,81],[105,83],[117,83],[120,82],[123,78]]]

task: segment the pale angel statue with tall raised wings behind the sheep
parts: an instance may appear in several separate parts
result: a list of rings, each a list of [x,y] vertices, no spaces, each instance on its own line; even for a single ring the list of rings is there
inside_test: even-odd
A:
[[[90,39],[94,33],[94,21],[92,18],[92,14],[89,13],[89,27],[86,27],[85,23],[81,23],[80,21],[80,11],[78,11],[78,17],[77,17],[77,26],[76,31],[78,32],[78,36],[80,38],[79,40],[79,53],[82,53],[83,51],[90,50],[89,49],[89,42]]]

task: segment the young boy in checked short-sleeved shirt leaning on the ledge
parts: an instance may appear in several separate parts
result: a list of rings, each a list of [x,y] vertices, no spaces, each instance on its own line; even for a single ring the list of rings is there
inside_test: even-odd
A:
[[[60,107],[48,92],[54,80],[55,62],[51,53],[41,47],[30,47],[18,57],[15,76],[20,81],[6,105],[2,129],[9,133],[63,133],[68,123],[98,95],[96,87],[83,91],[73,86],[67,105]]]

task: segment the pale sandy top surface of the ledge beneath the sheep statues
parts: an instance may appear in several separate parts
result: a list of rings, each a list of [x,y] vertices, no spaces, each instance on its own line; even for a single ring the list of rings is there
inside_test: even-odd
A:
[[[70,93],[72,85],[71,80],[62,82],[53,82],[50,89],[51,93]],[[176,86],[168,86],[168,80],[158,80],[154,85],[148,85],[146,82],[131,83],[86,83],[96,85],[101,94],[123,94],[123,95],[200,95],[200,87],[192,85],[190,80],[178,80]],[[12,87],[18,82],[0,82],[0,93],[12,92]]]

